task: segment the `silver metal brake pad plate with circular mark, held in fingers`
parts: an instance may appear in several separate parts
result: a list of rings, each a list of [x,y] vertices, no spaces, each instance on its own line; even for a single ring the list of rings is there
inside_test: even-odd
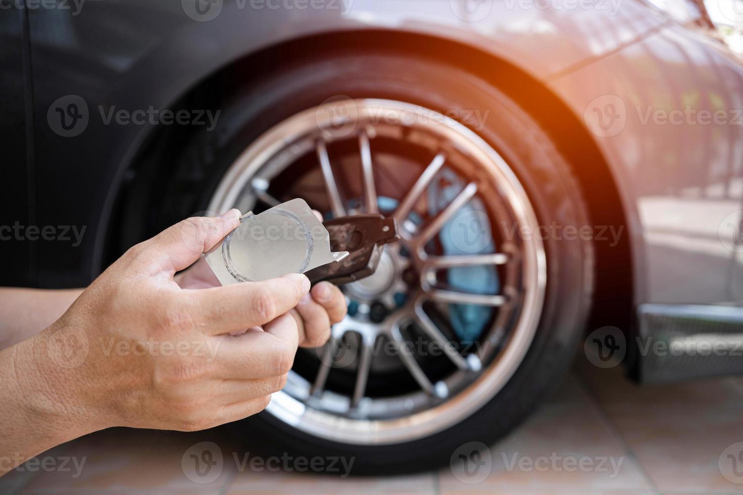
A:
[[[263,213],[247,212],[206,258],[227,285],[304,273],[346,256],[347,251],[331,252],[328,229],[305,200],[296,198]]]

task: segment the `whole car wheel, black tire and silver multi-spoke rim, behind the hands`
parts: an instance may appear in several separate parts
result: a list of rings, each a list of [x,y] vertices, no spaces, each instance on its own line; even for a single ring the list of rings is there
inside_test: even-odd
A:
[[[571,361],[591,243],[548,227],[588,225],[585,203],[548,134],[471,73],[391,54],[264,73],[168,182],[160,217],[303,197],[400,225],[377,272],[343,286],[331,341],[299,350],[267,410],[232,425],[253,450],[354,457],[354,473],[444,465],[513,430]]]

